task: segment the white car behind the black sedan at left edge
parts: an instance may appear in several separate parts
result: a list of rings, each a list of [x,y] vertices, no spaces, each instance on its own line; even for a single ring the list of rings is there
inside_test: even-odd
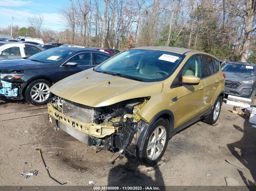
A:
[[[0,42],[0,60],[29,57],[45,50],[40,46],[28,43]]]

